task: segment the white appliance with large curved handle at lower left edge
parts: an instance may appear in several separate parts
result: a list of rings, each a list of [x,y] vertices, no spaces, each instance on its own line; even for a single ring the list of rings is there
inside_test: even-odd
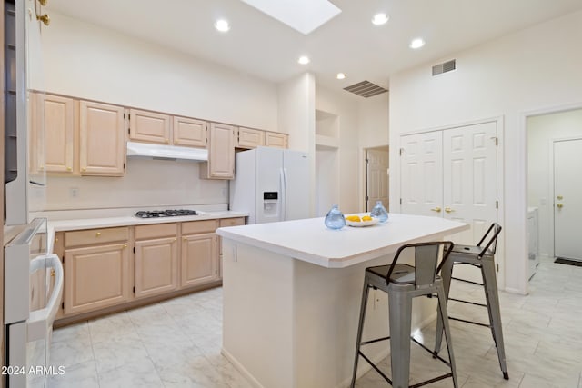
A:
[[[7,388],[45,387],[49,375],[65,373],[49,362],[53,322],[63,295],[63,265],[47,252],[45,218],[35,218],[5,245]]]

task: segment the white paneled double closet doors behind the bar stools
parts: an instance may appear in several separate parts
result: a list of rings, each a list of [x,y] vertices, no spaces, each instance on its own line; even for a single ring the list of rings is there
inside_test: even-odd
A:
[[[470,230],[449,238],[477,244],[497,222],[497,122],[408,134],[400,144],[401,213],[470,224]],[[477,275],[467,271],[460,277]]]

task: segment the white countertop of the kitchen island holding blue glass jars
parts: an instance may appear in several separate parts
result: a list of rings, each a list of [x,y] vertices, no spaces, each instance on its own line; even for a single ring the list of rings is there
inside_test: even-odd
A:
[[[442,239],[469,228],[439,217],[389,214],[386,224],[327,229],[324,218],[219,228],[216,234],[277,254],[321,265],[344,268],[385,254],[403,244]]]

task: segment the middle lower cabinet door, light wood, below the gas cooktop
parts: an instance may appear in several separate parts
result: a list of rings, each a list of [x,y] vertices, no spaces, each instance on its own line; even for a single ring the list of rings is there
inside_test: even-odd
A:
[[[135,242],[135,297],[176,290],[178,285],[176,237]]]

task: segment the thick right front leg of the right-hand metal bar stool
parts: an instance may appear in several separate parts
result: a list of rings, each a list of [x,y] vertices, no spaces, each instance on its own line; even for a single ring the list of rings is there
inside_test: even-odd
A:
[[[501,327],[501,311],[499,309],[499,294],[497,293],[497,277],[495,274],[495,264],[493,260],[483,260],[481,264],[481,274],[483,274],[483,284],[485,285],[485,295],[487,298],[487,311],[489,313],[489,323],[493,341],[497,347],[497,357],[503,378],[509,380],[507,373],[506,351],[503,343],[503,329]]]

